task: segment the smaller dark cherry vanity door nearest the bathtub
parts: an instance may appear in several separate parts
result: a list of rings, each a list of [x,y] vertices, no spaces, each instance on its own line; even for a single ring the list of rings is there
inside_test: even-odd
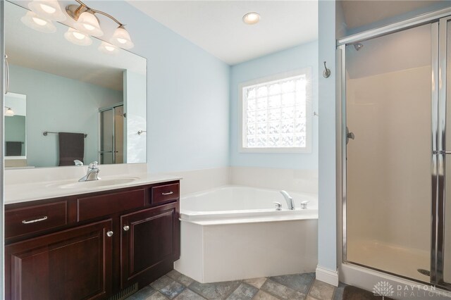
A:
[[[179,223],[178,202],[121,217],[123,288],[135,282],[145,284],[172,269],[180,252]]]

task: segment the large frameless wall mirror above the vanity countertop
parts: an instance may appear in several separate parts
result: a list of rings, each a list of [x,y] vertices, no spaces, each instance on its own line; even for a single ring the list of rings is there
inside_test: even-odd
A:
[[[27,12],[5,1],[6,167],[145,163],[146,59],[70,42],[62,23],[42,32]]]

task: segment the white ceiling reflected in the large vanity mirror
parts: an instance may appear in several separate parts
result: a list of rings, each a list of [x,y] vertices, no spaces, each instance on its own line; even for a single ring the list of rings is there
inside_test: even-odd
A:
[[[123,70],[146,73],[145,58],[123,49],[116,55],[104,54],[97,49],[99,39],[93,38],[90,46],[68,42],[64,38],[66,25],[54,22],[54,33],[32,30],[20,21],[26,12],[25,8],[5,1],[5,48],[9,63],[116,90],[123,89]],[[65,22],[70,24],[71,20],[68,17]]]

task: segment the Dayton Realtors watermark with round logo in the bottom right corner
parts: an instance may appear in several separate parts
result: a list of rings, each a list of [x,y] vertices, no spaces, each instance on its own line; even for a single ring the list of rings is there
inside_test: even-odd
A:
[[[380,281],[373,287],[374,296],[396,296],[400,298],[424,299],[426,297],[451,297],[451,293],[436,289],[432,285],[391,285],[388,281]]]

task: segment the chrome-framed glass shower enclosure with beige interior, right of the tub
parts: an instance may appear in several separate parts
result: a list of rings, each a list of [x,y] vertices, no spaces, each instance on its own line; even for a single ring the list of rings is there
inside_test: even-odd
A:
[[[338,46],[343,261],[445,289],[451,289],[450,19],[392,26]]]

